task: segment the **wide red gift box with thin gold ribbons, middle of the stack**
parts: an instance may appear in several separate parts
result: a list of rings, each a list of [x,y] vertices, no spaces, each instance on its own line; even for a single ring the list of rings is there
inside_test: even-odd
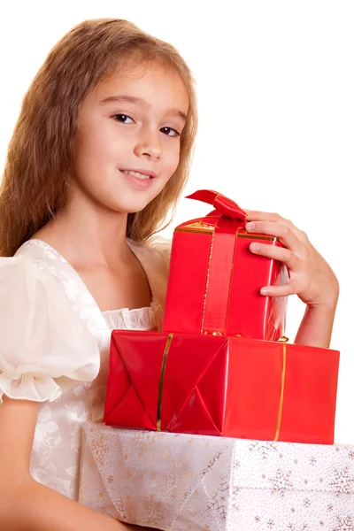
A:
[[[338,365],[336,350],[115,330],[104,422],[332,444]]]

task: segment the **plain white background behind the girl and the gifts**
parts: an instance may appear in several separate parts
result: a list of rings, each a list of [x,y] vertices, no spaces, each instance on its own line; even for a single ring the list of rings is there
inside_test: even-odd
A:
[[[334,268],[335,440],[354,443],[353,2],[2,2],[1,170],[21,98],[51,46],[97,17],[129,19],[172,42],[195,73],[200,127],[186,195],[217,189],[244,208],[279,212]],[[173,225],[208,210],[182,200]],[[291,297],[290,341],[303,312]]]

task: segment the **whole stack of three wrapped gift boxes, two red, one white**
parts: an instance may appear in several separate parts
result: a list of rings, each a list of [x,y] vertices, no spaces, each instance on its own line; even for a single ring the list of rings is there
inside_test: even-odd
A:
[[[289,344],[287,280],[245,212],[177,227],[164,331],[113,331],[104,425],[84,427],[80,501],[165,530],[354,529],[354,447],[335,446],[339,352]],[[217,435],[217,436],[215,436]]]

